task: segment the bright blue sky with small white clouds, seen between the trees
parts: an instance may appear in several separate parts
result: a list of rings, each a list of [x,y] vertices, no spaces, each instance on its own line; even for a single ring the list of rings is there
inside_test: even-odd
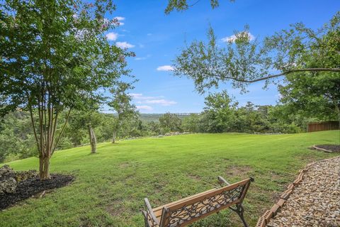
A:
[[[196,0],[188,0],[196,2]],[[140,81],[131,91],[141,113],[200,112],[204,95],[198,94],[193,82],[185,77],[174,77],[166,71],[184,45],[184,40],[205,40],[209,24],[214,28],[220,45],[222,38],[234,31],[242,31],[248,24],[251,35],[261,38],[288,28],[291,23],[303,22],[310,28],[319,28],[339,11],[340,1],[264,1],[220,0],[220,7],[211,9],[208,0],[182,13],[164,14],[167,0],[115,1],[121,26],[108,34],[113,45],[129,48],[136,57],[128,59],[128,67]],[[111,18],[110,18],[111,19]],[[239,94],[229,84],[227,89],[240,105],[276,104],[278,91],[275,85],[263,90],[263,83],[249,86],[249,92]]]

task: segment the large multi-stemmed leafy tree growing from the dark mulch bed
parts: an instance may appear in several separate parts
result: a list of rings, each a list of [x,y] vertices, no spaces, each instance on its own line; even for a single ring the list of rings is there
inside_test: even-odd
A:
[[[109,45],[104,35],[118,24],[104,17],[114,9],[110,0],[0,3],[0,114],[18,106],[30,112],[40,179],[50,178],[50,158],[72,109],[102,101],[98,89],[128,73],[125,57],[132,53]],[[68,114],[57,130],[62,111]]]

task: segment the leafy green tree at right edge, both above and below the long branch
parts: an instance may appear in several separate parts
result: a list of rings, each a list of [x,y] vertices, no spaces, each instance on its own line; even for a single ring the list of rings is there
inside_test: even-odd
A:
[[[331,21],[327,33],[319,40],[320,49],[327,48],[328,52],[314,52],[304,58],[307,67],[340,67],[340,18]],[[318,47],[315,47],[318,48]],[[324,55],[320,59],[318,55]],[[286,77],[286,83],[279,86],[280,101],[288,104],[291,111],[300,111],[307,117],[320,119],[338,119],[340,123],[340,75],[336,72],[300,72]]]

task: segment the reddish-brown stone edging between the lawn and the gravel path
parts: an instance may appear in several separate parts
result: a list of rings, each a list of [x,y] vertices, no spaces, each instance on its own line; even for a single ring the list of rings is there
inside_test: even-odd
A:
[[[283,204],[285,204],[285,201],[288,200],[290,194],[293,193],[294,188],[298,184],[300,184],[300,182],[302,182],[302,179],[305,175],[305,172],[307,172],[312,165],[316,164],[317,162],[325,162],[325,161],[332,160],[332,159],[337,158],[337,157],[340,157],[340,156],[331,157],[331,158],[327,158],[327,159],[324,159],[324,160],[311,162],[310,164],[308,164],[305,167],[305,169],[299,170],[299,175],[297,176],[295,181],[292,184],[288,185],[287,190],[285,190],[285,192],[283,192],[283,194],[281,194],[280,199],[276,202],[276,204],[274,204],[271,207],[270,210],[266,210],[266,212],[264,212],[264,214],[261,217],[259,217],[259,221],[257,221],[256,227],[266,227],[266,225],[269,223],[269,221],[271,221],[271,218],[273,218],[273,216],[276,216],[276,214],[278,213],[278,210],[283,206]]]

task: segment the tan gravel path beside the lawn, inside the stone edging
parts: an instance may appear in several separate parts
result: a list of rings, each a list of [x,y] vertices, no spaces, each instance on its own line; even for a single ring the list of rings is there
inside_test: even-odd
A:
[[[340,157],[311,165],[267,226],[339,227]]]

